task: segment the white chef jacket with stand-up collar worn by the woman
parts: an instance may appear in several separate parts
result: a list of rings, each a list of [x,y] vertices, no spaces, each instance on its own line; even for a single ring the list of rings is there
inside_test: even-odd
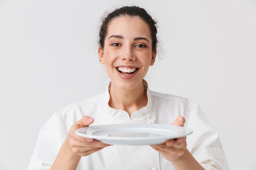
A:
[[[187,149],[206,170],[229,170],[217,132],[197,103],[170,94],[150,91],[146,81],[147,106],[132,113],[110,108],[109,87],[105,93],[73,103],[54,113],[40,129],[28,170],[49,170],[70,127],[83,116],[94,118],[92,125],[119,123],[171,124],[178,115],[186,119]],[[150,146],[113,145],[82,157],[77,170],[174,170],[170,161]]]

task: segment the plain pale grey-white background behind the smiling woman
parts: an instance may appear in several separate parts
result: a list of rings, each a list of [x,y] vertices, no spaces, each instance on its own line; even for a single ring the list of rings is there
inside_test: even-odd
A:
[[[158,20],[150,88],[198,102],[230,169],[255,170],[255,0],[0,0],[0,170],[26,170],[47,119],[105,90],[98,26],[121,5]]]

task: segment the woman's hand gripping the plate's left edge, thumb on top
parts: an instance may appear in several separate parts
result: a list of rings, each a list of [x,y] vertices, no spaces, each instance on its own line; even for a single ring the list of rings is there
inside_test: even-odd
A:
[[[105,148],[106,146],[110,146],[96,139],[90,139],[76,135],[75,131],[77,129],[87,127],[92,124],[93,121],[94,119],[92,117],[84,116],[70,128],[65,142],[70,147],[73,153],[80,156],[88,156],[94,152]]]

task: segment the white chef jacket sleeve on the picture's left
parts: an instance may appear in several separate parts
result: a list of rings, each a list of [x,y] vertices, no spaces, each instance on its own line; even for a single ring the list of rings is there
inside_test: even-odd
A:
[[[55,113],[40,129],[28,170],[49,170],[66,136],[63,121]]]

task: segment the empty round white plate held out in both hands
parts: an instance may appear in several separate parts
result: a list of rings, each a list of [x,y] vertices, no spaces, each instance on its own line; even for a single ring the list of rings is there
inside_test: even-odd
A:
[[[111,145],[156,145],[185,137],[193,130],[167,124],[108,124],[76,130],[76,135]]]

